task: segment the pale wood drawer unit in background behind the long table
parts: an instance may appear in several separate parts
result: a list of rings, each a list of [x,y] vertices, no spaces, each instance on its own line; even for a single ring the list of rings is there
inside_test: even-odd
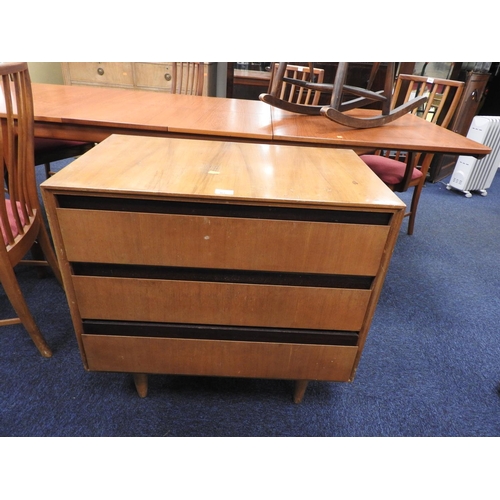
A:
[[[66,85],[170,92],[173,62],[63,62]],[[217,63],[205,63],[203,95],[215,96]]]

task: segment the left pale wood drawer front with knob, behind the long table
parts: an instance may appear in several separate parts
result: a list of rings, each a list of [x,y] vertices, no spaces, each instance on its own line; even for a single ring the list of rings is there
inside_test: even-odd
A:
[[[68,65],[72,83],[90,85],[134,85],[132,63],[82,62]]]

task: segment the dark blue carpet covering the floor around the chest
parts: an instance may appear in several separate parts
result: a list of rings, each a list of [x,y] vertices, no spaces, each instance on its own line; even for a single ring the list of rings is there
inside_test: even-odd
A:
[[[62,289],[19,267],[54,355],[42,358],[21,326],[2,329],[0,434],[500,436],[499,177],[470,199],[426,185],[354,382],[311,382],[300,405],[289,381],[157,375],[140,399],[130,375],[85,372]],[[1,317],[9,310],[2,290]]]

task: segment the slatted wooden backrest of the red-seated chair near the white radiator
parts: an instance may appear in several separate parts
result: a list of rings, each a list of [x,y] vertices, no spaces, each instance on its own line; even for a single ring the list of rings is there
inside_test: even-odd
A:
[[[396,80],[391,107],[414,97],[427,96],[425,105],[412,113],[446,128],[460,102],[464,86],[464,82],[457,80],[402,74]]]

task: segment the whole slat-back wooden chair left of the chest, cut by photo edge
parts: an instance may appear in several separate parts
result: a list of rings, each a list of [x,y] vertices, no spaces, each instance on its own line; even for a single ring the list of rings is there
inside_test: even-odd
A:
[[[38,199],[34,168],[34,119],[27,63],[0,63],[0,282],[17,317],[0,326],[22,323],[44,357],[52,352],[42,336],[19,287],[14,267],[36,247],[61,282]],[[40,262],[37,262],[40,263]]]

